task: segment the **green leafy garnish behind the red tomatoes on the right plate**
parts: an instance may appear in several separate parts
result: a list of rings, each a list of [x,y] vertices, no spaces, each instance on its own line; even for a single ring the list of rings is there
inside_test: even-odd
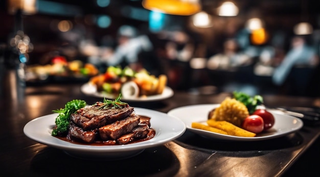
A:
[[[263,98],[260,95],[255,95],[253,97],[250,97],[249,95],[243,93],[243,92],[233,92],[233,97],[242,102],[248,109],[249,114],[252,114],[255,112],[257,106],[261,105],[263,103]]]

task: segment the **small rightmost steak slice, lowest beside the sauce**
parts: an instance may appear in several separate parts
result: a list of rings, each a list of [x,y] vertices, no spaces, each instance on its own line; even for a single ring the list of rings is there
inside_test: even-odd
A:
[[[129,134],[125,134],[118,138],[119,144],[128,144],[135,139],[145,138],[150,131],[148,125],[138,125]]]

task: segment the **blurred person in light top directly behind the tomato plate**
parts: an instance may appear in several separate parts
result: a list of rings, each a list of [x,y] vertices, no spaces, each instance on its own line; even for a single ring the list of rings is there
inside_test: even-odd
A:
[[[240,50],[236,38],[226,38],[223,51],[211,56],[207,62],[212,84],[223,92],[233,90],[256,94],[252,84],[253,58]]]

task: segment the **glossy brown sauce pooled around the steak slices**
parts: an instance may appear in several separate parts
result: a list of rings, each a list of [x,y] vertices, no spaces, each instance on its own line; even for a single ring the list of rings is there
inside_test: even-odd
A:
[[[150,132],[148,133],[148,135],[144,138],[140,138],[140,139],[133,139],[132,141],[128,142],[127,144],[132,144],[132,143],[138,143],[138,142],[142,142],[142,141],[147,141],[147,140],[150,140],[152,139],[154,136],[155,136],[155,130],[151,127],[150,125],[150,117],[147,117],[147,116],[141,116],[140,115],[140,119],[141,119],[141,122],[143,123],[146,123],[149,125],[150,127]],[[64,137],[60,137],[60,136],[55,136],[56,138],[60,139],[60,140],[63,140],[63,141],[67,141],[67,142],[70,142],[70,143],[73,143],[73,144],[81,144],[81,145],[92,145],[92,146],[110,146],[110,145],[121,145],[119,144],[116,140],[106,140],[106,141],[103,141],[103,140],[96,140],[95,142],[93,143],[85,143],[81,140],[77,140],[77,139],[70,139],[68,138],[67,136],[64,136]]]

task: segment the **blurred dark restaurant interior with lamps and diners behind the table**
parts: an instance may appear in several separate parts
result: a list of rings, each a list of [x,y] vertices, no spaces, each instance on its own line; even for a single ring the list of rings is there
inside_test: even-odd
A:
[[[1,1],[1,70],[22,67],[27,86],[87,81],[50,77],[61,76],[53,65],[66,59],[101,73],[109,65],[143,67],[195,94],[320,96],[319,1],[225,2]]]

